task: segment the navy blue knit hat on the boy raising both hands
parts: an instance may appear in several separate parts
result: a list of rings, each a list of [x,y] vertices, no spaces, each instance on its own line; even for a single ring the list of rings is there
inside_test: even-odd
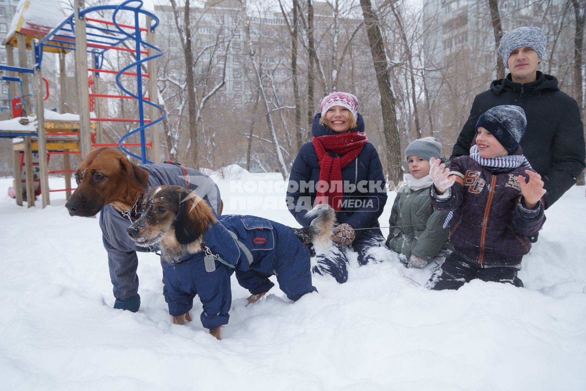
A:
[[[527,118],[519,106],[503,104],[487,110],[476,122],[476,130],[483,127],[512,154],[525,134]]]

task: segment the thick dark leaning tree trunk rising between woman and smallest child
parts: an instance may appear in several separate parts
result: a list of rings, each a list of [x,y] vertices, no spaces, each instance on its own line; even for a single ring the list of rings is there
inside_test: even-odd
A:
[[[383,36],[380,32],[379,18],[374,12],[370,0],[360,0],[360,6],[364,15],[364,26],[366,26],[376,80],[379,85],[380,106],[383,112],[383,133],[386,141],[387,170],[389,172],[389,181],[392,182],[390,183],[391,186],[403,180],[401,142],[397,128],[395,97],[391,88],[389,63],[387,63]]]

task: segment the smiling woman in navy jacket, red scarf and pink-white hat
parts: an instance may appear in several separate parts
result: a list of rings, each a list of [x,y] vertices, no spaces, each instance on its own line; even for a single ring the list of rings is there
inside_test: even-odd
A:
[[[387,202],[383,166],[367,142],[352,94],[323,98],[311,132],[313,141],[301,147],[291,168],[287,205],[304,227],[311,223],[305,215],[314,205],[329,203],[336,210],[335,243],[316,257],[312,271],[331,274],[342,284],[348,278],[346,247],[356,251],[360,266],[374,260],[373,247],[384,247],[378,222]]]

